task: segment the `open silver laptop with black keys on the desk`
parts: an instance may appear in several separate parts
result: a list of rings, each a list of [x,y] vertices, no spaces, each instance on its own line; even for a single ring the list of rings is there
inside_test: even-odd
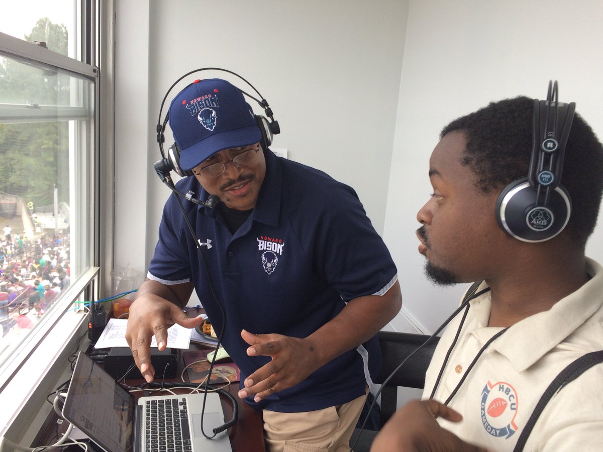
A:
[[[201,433],[204,394],[161,395],[136,400],[86,354],[80,352],[63,405],[63,418],[106,452],[232,452],[226,432]],[[162,415],[160,410],[166,410]],[[185,417],[188,415],[188,418]],[[224,424],[219,395],[207,394],[203,430]],[[165,432],[159,432],[165,428]],[[188,437],[188,438],[187,438]]]

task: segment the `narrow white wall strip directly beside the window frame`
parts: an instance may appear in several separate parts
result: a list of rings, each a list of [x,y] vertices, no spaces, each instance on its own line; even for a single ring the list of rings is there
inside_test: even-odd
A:
[[[115,7],[115,226],[113,268],[142,274],[147,262],[148,150],[153,130],[149,90],[148,2]],[[106,295],[115,295],[114,293]]]

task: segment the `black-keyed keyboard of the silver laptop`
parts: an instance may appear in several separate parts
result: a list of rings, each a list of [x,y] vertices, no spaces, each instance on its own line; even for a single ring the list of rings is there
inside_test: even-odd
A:
[[[186,399],[151,399],[145,404],[145,452],[191,451]]]

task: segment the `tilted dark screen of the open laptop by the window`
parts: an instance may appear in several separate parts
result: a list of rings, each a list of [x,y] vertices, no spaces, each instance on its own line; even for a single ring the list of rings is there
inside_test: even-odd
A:
[[[136,399],[84,353],[78,355],[63,416],[110,452],[130,452]]]

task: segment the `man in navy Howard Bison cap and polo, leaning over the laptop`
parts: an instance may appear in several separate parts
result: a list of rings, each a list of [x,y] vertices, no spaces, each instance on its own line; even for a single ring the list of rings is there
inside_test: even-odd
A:
[[[201,324],[182,312],[195,289],[241,368],[239,397],[264,410],[270,451],[349,450],[379,371],[375,334],[402,304],[390,253],[355,191],[276,157],[227,81],[186,87],[169,124],[180,166],[194,175],[178,191],[219,202],[166,202],[148,280],[130,307],[137,366],[151,381],[151,337],[163,350],[169,325]]]

